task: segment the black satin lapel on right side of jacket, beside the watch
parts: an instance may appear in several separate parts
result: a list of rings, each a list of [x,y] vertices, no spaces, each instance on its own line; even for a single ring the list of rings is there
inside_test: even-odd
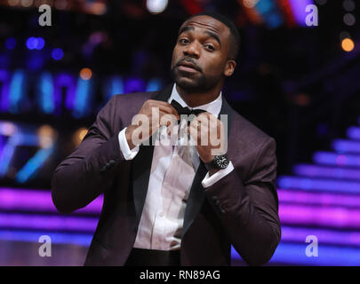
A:
[[[225,127],[225,136],[228,137],[228,130],[231,126],[232,121],[232,112],[230,106],[228,106],[228,102],[225,100],[224,97],[222,97],[222,106],[220,109],[220,114],[218,116],[218,119],[220,119],[221,114],[227,114],[228,115],[228,127]],[[182,229],[182,237],[187,233],[188,228],[190,225],[194,222],[195,217],[197,216],[198,212],[200,211],[205,193],[204,193],[204,187],[201,184],[204,177],[206,176],[207,170],[205,168],[204,162],[200,161],[199,167],[196,170],[196,175],[194,177],[193,184],[191,185],[190,193],[188,194],[188,204],[185,209],[185,217],[184,217],[184,224]]]

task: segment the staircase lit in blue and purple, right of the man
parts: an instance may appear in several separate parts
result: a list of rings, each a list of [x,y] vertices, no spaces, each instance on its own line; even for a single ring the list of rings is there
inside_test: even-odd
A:
[[[282,241],[270,264],[360,265],[360,126],[292,172],[277,178]]]

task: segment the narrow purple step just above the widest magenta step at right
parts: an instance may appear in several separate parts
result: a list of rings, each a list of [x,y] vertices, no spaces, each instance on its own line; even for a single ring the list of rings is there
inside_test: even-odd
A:
[[[341,206],[360,209],[360,196],[340,193],[309,193],[277,189],[280,203],[297,203],[319,207]]]

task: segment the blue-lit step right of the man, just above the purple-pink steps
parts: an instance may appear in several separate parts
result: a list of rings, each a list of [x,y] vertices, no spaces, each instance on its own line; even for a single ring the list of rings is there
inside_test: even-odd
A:
[[[339,193],[360,193],[360,182],[308,177],[279,177],[277,183],[283,188],[329,191]]]

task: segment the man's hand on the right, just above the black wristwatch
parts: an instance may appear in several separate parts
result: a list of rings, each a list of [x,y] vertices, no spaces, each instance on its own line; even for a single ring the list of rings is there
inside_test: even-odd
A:
[[[204,163],[212,162],[216,155],[226,154],[224,125],[215,115],[207,112],[197,115],[188,132],[196,142],[197,152]]]

